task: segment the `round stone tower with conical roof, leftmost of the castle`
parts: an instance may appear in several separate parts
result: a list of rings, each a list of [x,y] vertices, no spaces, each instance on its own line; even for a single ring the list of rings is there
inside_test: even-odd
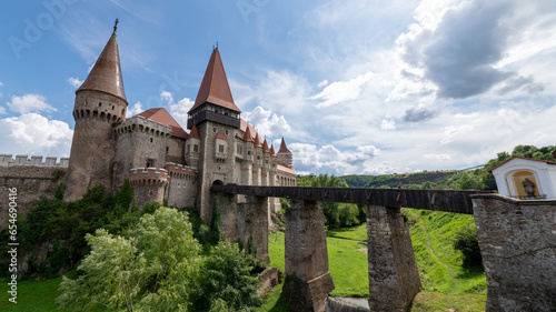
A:
[[[96,184],[112,189],[115,140],[112,125],[126,118],[116,28],[87,80],[76,91],[76,128],[68,168],[66,201],[73,201]]]

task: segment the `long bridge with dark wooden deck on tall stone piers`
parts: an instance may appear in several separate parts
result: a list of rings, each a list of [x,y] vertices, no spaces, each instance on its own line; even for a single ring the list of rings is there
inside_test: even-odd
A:
[[[369,306],[407,311],[421,286],[400,208],[475,215],[488,283],[487,311],[555,311],[556,201],[518,201],[461,190],[214,185],[222,233],[268,256],[268,198],[288,198],[284,293],[292,311],[325,311],[334,290],[318,201],[365,204]],[[242,197],[245,195],[245,199]]]

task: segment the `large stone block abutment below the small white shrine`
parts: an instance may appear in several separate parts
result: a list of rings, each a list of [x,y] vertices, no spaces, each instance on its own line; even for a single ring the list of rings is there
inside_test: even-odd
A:
[[[486,311],[556,311],[556,201],[471,195]]]

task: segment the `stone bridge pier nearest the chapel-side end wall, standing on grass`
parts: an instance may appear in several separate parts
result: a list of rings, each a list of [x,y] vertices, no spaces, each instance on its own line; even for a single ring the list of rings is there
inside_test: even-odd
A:
[[[366,205],[370,311],[407,311],[421,286],[399,208]]]

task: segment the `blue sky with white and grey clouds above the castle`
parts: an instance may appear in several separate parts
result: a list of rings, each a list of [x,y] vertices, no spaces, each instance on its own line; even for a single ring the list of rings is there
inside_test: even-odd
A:
[[[69,155],[75,90],[119,18],[129,113],[185,127],[212,46],[242,118],[300,173],[465,169],[556,144],[556,1],[0,4],[0,153]]]

